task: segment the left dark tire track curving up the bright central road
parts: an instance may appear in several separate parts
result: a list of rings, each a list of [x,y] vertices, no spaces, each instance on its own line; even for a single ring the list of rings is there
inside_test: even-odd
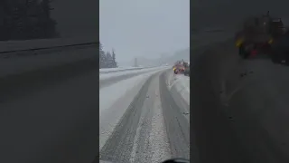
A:
[[[135,100],[130,104],[116,129],[107,139],[107,143],[100,150],[99,159],[116,162],[130,162],[132,160],[130,158],[134,149],[135,134],[137,134],[139,122],[143,119],[142,108],[147,99],[146,94],[150,83],[156,74],[144,83],[142,89],[135,96]]]

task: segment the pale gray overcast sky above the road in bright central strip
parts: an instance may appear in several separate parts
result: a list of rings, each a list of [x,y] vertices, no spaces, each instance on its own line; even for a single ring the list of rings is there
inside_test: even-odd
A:
[[[117,61],[190,46],[190,0],[100,0],[100,42]]]

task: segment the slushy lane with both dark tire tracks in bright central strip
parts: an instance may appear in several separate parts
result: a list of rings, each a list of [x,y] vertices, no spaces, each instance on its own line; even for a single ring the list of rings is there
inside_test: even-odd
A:
[[[156,72],[144,83],[100,150],[100,160],[142,163],[190,158],[188,115],[174,101],[166,73]]]

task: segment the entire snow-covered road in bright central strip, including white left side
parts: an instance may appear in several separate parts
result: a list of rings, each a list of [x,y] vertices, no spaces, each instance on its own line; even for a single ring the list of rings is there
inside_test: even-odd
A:
[[[177,77],[164,67],[100,88],[101,160],[190,158],[190,104],[176,89],[180,83],[172,81]]]

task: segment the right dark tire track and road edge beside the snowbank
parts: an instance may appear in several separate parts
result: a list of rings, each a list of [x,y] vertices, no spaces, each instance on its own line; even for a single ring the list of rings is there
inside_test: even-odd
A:
[[[160,76],[160,95],[172,158],[190,158],[190,106],[167,88],[167,79],[167,73]]]

